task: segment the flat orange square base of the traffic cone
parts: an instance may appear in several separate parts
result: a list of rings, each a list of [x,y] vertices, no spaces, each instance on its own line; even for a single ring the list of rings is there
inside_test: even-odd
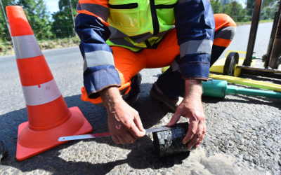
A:
[[[70,119],[51,130],[34,131],[30,130],[28,122],[20,124],[18,126],[17,160],[22,161],[61,144],[65,144],[67,141],[58,141],[58,138],[60,137],[88,134],[92,132],[93,128],[78,107],[75,106],[70,108],[70,112],[72,113]],[[73,131],[72,126],[77,124],[77,119],[81,120],[81,127],[79,127],[77,131]],[[22,132],[27,134],[21,134]],[[32,137],[28,137],[28,133],[32,134]],[[34,138],[41,138],[42,136],[45,136],[44,139],[47,139],[47,144],[41,144],[40,141],[38,142],[39,144],[37,144],[37,140],[34,141]],[[20,144],[19,140],[23,140],[25,143]],[[31,144],[26,146],[26,143],[29,142]]]

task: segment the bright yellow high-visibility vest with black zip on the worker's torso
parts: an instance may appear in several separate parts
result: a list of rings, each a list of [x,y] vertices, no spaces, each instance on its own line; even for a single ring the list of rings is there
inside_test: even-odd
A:
[[[133,51],[153,48],[162,37],[174,29],[174,8],[178,0],[109,0],[110,46]]]

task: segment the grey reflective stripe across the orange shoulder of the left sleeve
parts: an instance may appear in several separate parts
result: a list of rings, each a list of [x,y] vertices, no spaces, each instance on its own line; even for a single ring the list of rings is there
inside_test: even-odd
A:
[[[80,3],[79,9],[87,10],[105,21],[107,21],[108,15],[110,13],[109,8],[106,8],[105,6],[100,6],[96,3]]]

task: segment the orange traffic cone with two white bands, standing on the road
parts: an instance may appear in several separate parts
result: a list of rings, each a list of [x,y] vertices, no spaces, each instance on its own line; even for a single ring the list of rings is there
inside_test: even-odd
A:
[[[78,107],[68,109],[21,6],[6,7],[28,122],[18,126],[19,161],[66,141],[59,137],[87,134],[89,122]]]

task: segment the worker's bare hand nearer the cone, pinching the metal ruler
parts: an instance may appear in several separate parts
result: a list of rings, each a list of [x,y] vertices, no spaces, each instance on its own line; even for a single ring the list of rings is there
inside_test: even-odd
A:
[[[117,87],[100,92],[107,109],[107,123],[116,144],[132,144],[145,135],[138,111],[126,104]]]

